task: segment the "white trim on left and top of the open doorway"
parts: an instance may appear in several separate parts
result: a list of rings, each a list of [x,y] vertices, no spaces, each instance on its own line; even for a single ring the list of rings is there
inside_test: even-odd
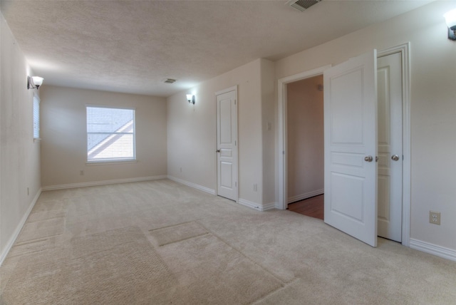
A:
[[[323,72],[331,68],[331,65],[323,66],[302,73],[295,74],[294,76],[287,76],[279,79],[279,200],[276,202],[276,208],[279,210],[286,210],[288,205],[288,198],[285,190],[287,189],[286,181],[286,85],[295,81],[301,81],[305,78],[322,75]]]

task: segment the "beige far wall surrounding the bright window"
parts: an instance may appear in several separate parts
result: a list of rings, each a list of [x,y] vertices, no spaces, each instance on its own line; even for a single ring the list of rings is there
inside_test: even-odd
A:
[[[40,91],[43,187],[166,175],[165,98],[56,86]],[[136,109],[138,162],[86,165],[86,104]]]

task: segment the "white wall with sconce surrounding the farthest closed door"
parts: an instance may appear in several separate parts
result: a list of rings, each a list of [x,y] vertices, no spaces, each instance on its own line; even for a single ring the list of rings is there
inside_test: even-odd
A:
[[[264,123],[261,110],[263,98],[269,98],[267,103],[270,110],[266,110],[266,113],[268,120],[273,120],[273,73],[273,63],[258,59],[201,83],[189,91],[167,98],[168,175],[215,192],[217,179],[214,93],[238,86],[239,202],[262,207]],[[261,80],[268,78],[270,86],[266,88]],[[262,86],[265,96],[262,94]],[[195,105],[186,102],[187,92],[195,93]],[[272,157],[271,163],[274,164]],[[274,172],[271,175],[274,180]],[[257,192],[253,190],[254,184],[258,186]]]

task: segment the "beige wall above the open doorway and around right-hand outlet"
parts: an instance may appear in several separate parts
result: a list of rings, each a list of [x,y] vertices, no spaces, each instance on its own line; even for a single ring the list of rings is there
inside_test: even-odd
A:
[[[410,237],[456,250],[456,43],[442,15],[456,1],[435,1],[276,62],[276,79],[346,61],[372,48],[410,41]],[[440,226],[429,211],[442,213]]]

